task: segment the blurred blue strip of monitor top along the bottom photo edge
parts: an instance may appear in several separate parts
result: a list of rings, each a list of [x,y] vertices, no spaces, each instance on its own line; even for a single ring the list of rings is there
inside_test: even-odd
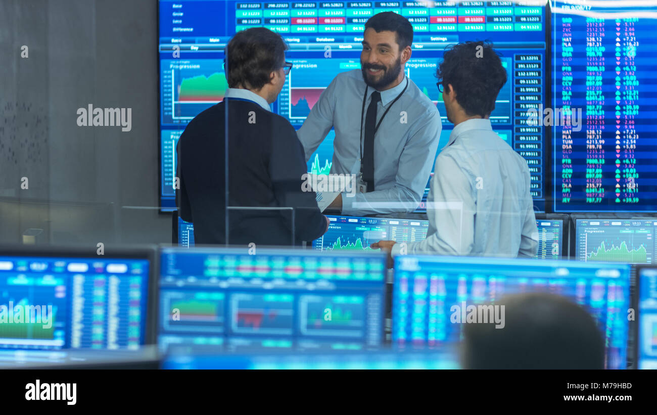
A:
[[[331,353],[252,354],[196,353],[173,348],[162,360],[163,369],[459,369],[458,354],[453,351],[332,351]]]

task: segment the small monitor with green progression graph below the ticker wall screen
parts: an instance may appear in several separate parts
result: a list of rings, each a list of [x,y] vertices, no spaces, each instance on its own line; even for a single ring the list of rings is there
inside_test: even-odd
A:
[[[651,264],[655,219],[576,219],[579,261]]]

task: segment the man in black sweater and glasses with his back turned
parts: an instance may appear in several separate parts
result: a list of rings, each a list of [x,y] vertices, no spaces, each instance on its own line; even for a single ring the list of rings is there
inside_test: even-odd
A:
[[[178,141],[176,204],[194,223],[196,244],[299,244],[328,229],[315,192],[302,190],[307,167],[296,131],[269,108],[292,66],[286,49],[265,28],[238,32],[227,45],[223,102],[198,114]],[[294,235],[285,208],[294,210]]]

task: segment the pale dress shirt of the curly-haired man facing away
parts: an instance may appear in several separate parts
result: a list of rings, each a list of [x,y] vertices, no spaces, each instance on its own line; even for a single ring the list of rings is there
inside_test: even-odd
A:
[[[427,238],[408,254],[533,257],[538,229],[527,162],[501,140],[490,120],[455,125],[438,154],[427,198]],[[402,244],[395,244],[398,255]]]

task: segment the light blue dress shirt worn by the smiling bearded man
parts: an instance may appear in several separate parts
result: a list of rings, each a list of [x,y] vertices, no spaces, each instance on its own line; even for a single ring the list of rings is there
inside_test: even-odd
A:
[[[406,91],[390,106],[407,82]],[[365,86],[361,70],[357,69],[338,74],[323,91],[297,132],[306,151],[306,162],[334,128],[330,173],[354,174],[360,179],[360,142],[365,139],[365,114],[363,135],[359,137],[359,134]],[[373,92],[374,88],[367,88],[365,112]],[[422,200],[438,150],[442,130],[440,114],[436,105],[408,77],[396,87],[381,92],[377,123],[389,107],[374,137],[374,191],[353,196],[344,192],[344,215],[411,212]]]

